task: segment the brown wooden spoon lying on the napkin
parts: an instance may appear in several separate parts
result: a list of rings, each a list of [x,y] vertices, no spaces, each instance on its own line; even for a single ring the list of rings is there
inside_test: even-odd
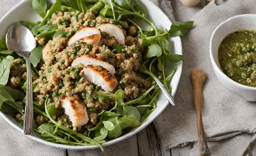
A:
[[[196,120],[197,120],[197,136],[198,144],[201,156],[209,155],[209,150],[206,143],[206,138],[204,135],[204,128],[202,124],[202,105],[203,105],[203,95],[202,86],[206,80],[206,73],[204,70],[196,68],[192,70],[190,74],[192,79],[193,93],[194,93],[194,107],[196,109]]]

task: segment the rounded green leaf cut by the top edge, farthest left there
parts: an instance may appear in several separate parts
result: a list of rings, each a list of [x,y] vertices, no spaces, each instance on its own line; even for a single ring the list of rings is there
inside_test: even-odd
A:
[[[32,8],[42,18],[46,16],[46,8],[47,8],[46,0],[32,0]]]

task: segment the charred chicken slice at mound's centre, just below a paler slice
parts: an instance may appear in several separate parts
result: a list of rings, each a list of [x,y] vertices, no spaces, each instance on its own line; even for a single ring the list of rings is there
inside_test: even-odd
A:
[[[106,68],[103,66],[96,65],[87,65],[84,66],[84,69],[80,72],[82,78],[101,86],[106,92],[112,92],[118,82],[114,74],[111,74]]]

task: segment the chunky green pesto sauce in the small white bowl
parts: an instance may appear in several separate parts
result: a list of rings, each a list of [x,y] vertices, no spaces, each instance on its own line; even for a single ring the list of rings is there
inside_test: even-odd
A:
[[[218,59],[232,80],[256,87],[256,31],[236,31],[220,43]]]

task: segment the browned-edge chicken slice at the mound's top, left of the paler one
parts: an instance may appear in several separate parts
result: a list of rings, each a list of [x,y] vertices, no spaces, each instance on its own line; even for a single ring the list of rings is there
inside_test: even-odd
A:
[[[95,35],[95,34],[98,34],[98,35]],[[70,47],[70,45],[72,45],[72,43],[74,43],[75,41],[83,39],[83,38],[85,38],[84,40],[90,41],[92,43],[97,43],[97,42],[99,43],[99,41],[100,41],[100,30],[98,28],[94,27],[94,26],[92,26],[92,27],[88,27],[88,26],[80,27],[78,29],[78,31],[68,40],[68,47]]]

